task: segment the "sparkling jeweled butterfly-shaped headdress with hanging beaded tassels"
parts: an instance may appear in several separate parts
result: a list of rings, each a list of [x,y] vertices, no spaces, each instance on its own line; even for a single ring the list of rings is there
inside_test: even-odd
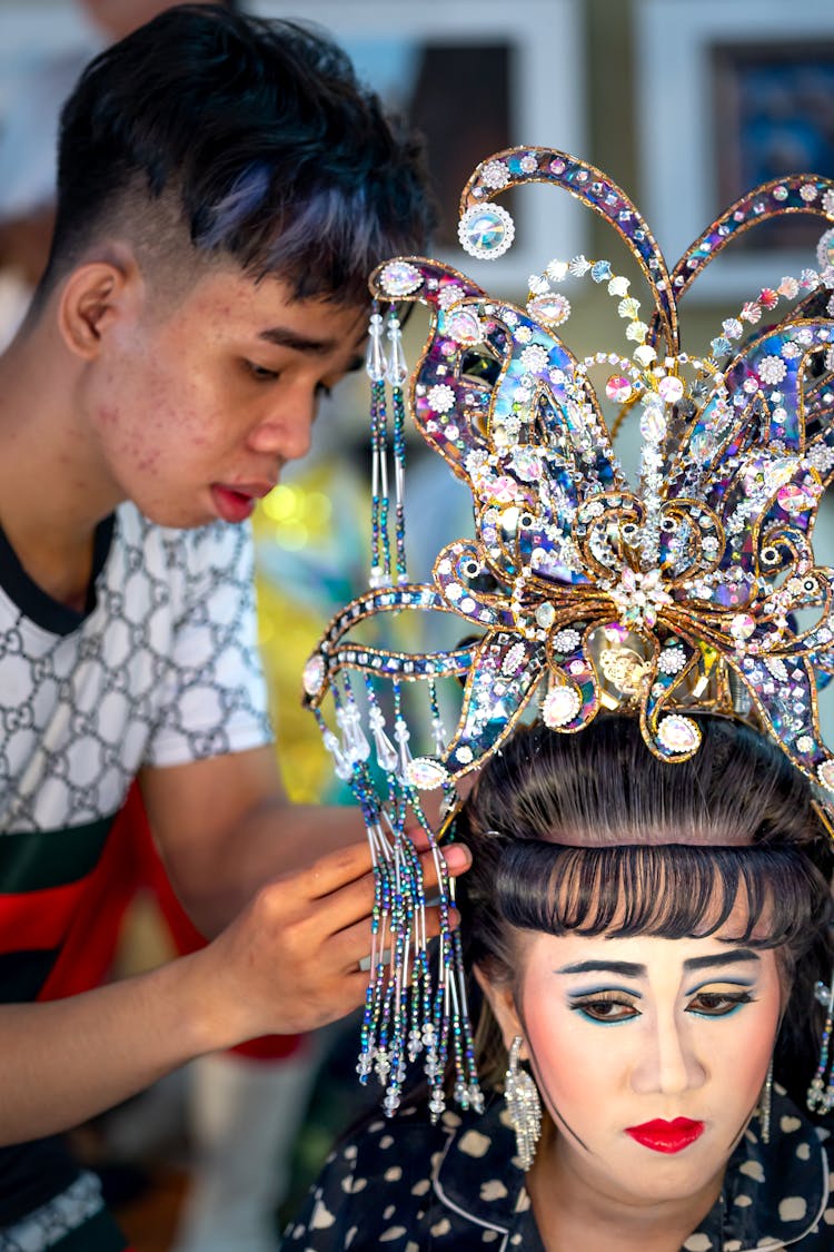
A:
[[[820,240],[818,268],[781,277],[733,310],[708,356],[681,351],[678,318],[693,282],[744,230],[795,212],[834,222],[834,185],[796,175],[756,188],[669,269],[603,173],[551,149],[511,149],[464,189],[459,234],[471,255],[511,245],[513,220],[493,199],[529,182],[566,190],[614,227],[651,305],[644,313],[626,277],[585,257],[550,260],[518,305],[435,260],[399,258],[375,272],[370,587],[336,615],[304,676],[378,866],[360,1074],[383,1080],[389,1112],[406,1059],[420,1054],[434,1113],[449,1055],[458,1099],[480,1098],[455,939],[444,931],[433,967],[404,824],[411,810],[429,830],[448,908],[421,793],[440,788],[454,808],[456,781],[519,717],[571,734],[603,709],[626,709],[649,750],[673,765],[698,750],[693,712],[745,715],[834,805],[834,757],[816,706],[818,679],[834,669],[833,571],[815,563],[811,546],[834,472],[834,230]],[[576,282],[616,303],[624,342],[615,351],[578,358],[566,347]],[[415,302],[429,309],[430,329],[409,376],[399,313]],[[636,411],[634,486],[614,453],[603,393],[618,422]],[[411,582],[405,565],[409,417],[473,500],[473,537],[443,548],[430,583]],[[359,641],[361,623],[413,610],[453,615],[460,642],[404,651]],[[425,751],[411,746],[415,684],[428,692]],[[450,689],[459,706],[446,732]],[[340,736],[324,716],[328,695]]]

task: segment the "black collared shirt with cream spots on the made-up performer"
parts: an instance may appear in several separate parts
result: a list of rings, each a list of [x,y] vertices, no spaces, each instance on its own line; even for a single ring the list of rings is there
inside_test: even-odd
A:
[[[774,1084],[771,1139],[751,1122],[724,1187],[681,1252],[834,1248],[825,1131],[803,1118]],[[299,1252],[544,1252],[504,1101],[478,1117],[424,1107],[371,1122],[331,1154],[285,1246]]]

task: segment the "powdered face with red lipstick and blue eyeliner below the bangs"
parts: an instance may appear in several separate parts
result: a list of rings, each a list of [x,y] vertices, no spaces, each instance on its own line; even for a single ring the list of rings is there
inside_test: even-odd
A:
[[[720,933],[519,931],[519,948],[515,997],[490,1000],[508,1042],[525,1039],[561,1163],[619,1201],[708,1187],[765,1080],[783,1002],[775,953]]]

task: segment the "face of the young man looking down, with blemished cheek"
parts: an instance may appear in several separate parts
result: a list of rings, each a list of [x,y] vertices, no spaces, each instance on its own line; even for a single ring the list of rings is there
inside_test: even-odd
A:
[[[141,295],[83,383],[115,498],[163,526],[241,522],[310,446],[316,404],[356,368],[366,310],[213,270],[174,309]]]

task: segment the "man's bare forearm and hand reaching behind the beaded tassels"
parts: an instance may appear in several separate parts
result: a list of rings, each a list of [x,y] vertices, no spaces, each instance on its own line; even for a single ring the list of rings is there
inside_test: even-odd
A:
[[[446,856],[451,874],[469,864],[464,848]],[[430,854],[423,869],[433,885]],[[196,953],[83,995],[0,1005],[0,1143],[78,1126],[206,1052],[348,1013],[368,984],[373,904],[363,843],[260,888]]]

